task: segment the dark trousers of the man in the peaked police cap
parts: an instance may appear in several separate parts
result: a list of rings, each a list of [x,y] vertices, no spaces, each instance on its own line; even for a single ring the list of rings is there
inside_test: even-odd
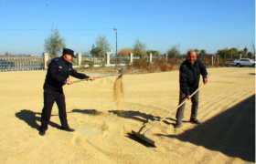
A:
[[[48,122],[54,102],[57,103],[59,108],[59,119],[61,127],[68,128],[67,112],[66,112],[66,103],[65,96],[63,92],[55,92],[53,94],[44,93],[44,108],[42,110],[41,116],[41,130],[48,129]]]

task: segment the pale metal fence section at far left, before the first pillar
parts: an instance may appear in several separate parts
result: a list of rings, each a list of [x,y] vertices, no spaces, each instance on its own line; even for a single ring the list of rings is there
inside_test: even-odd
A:
[[[0,57],[0,71],[42,70],[43,57]]]

